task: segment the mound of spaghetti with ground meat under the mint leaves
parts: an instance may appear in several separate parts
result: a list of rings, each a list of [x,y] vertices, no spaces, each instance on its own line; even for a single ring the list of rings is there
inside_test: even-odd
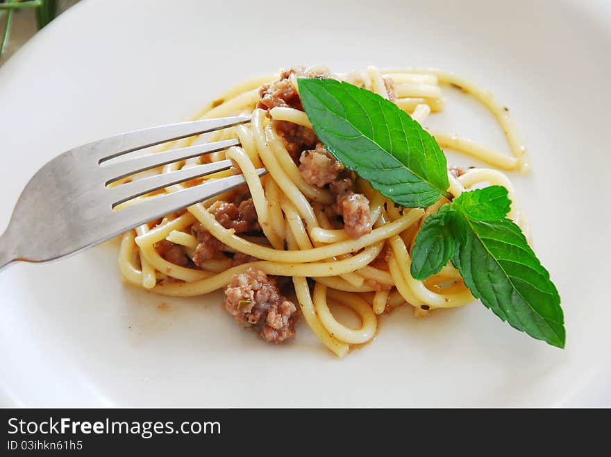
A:
[[[242,324],[259,326],[265,339],[280,342],[294,336],[292,326],[299,313],[290,300],[276,293],[276,279],[267,275],[278,277],[280,282],[281,277],[290,277],[303,320],[340,357],[353,345],[374,338],[377,316],[394,307],[409,304],[416,316],[423,317],[432,309],[461,307],[474,301],[451,264],[426,281],[417,281],[410,274],[410,250],[418,229],[447,200],[442,198],[424,209],[397,207],[333,162],[321,149],[324,146],[317,144],[301,109],[296,84],[300,75],[333,77],[365,87],[394,101],[419,123],[444,109],[444,86],[458,87],[474,96],[499,121],[512,155],[457,135],[431,132],[442,148],[494,167],[466,172],[449,169],[448,191],[459,196],[483,184],[506,187],[513,202],[508,217],[528,238],[526,219],[512,184],[500,171],[528,172],[528,154],[507,110],[492,94],[435,69],[380,71],[368,67],[331,75],[324,67],[310,67],[285,71],[280,80],[274,76],[248,80],[222,94],[195,118],[251,114],[248,125],[162,146],[167,150],[191,146],[196,141],[240,139],[241,146],[168,164],[156,172],[168,173],[227,158],[244,174],[247,189],[200,202],[124,234],[119,267],[126,282],[177,297],[226,288],[227,300],[237,294],[231,307],[226,302],[226,309]],[[259,177],[256,169],[260,166],[269,173]],[[165,192],[228,173],[233,172],[176,184]],[[126,204],[148,198],[155,195]],[[244,291],[250,294],[246,300],[242,300]],[[262,295],[267,302],[257,307]],[[342,324],[329,305],[353,311],[360,318],[360,327]]]

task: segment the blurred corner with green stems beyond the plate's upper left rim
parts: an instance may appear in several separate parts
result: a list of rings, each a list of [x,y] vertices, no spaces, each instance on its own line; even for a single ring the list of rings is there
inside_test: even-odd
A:
[[[0,0],[0,65],[78,0]]]

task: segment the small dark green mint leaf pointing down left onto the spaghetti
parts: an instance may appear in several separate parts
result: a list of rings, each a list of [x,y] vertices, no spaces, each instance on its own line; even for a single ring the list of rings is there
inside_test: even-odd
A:
[[[439,273],[455,254],[456,242],[451,231],[454,216],[451,205],[446,204],[424,220],[412,249],[411,273],[415,279]]]

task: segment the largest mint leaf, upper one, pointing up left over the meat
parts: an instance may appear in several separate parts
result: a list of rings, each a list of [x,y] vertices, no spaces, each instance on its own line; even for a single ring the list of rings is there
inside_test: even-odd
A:
[[[449,187],[437,141],[391,101],[333,79],[299,78],[301,102],[328,151],[403,207],[427,207]]]

